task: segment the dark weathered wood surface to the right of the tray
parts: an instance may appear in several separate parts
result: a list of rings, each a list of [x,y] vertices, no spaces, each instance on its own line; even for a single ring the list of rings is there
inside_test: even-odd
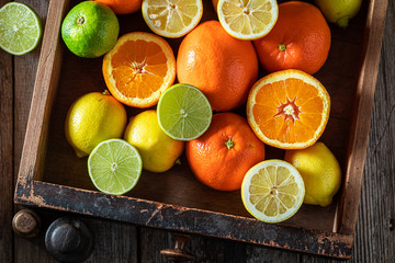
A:
[[[395,3],[388,1],[354,262],[395,262]],[[393,226],[394,228],[394,226]]]

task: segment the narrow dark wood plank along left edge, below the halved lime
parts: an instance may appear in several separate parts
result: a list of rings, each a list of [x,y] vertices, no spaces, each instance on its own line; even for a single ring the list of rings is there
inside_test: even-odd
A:
[[[13,100],[12,56],[0,49],[0,226],[11,226],[13,216]],[[0,262],[11,261],[12,230],[0,227]]]

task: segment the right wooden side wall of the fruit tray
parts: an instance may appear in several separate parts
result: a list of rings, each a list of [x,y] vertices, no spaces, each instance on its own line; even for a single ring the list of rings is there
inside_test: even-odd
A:
[[[343,233],[353,233],[357,226],[358,209],[356,208],[360,202],[387,1],[375,0],[370,1],[369,4],[362,49],[364,55],[353,103],[354,116],[351,119],[347,173],[337,214],[340,221],[339,231]]]

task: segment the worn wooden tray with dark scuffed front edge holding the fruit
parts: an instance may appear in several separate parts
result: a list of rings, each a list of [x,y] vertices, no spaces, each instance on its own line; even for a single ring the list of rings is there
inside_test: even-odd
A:
[[[315,75],[331,96],[328,126],[321,136],[342,168],[342,188],[331,206],[303,205],[283,224],[253,219],[239,191],[218,192],[199,183],[181,164],[166,173],[144,171],[125,196],[98,192],[67,144],[67,110],[80,95],[103,91],[102,58],[83,59],[64,45],[64,15],[78,1],[52,0],[48,8],[24,148],[15,186],[19,204],[67,210],[142,226],[218,237],[249,243],[348,259],[356,231],[370,118],[387,0],[363,1],[346,30],[330,25],[332,44],[325,66]],[[120,15],[120,36],[147,31],[139,12]],[[216,19],[210,0],[202,21]],[[182,39],[167,39],[177,55]],[[264,76],[263,70],[260,77]],[[142,110],[127,107],[128,116]],[[244,114],[245,108],[237,110]],[[267,159],[283,151],[267,147]]]

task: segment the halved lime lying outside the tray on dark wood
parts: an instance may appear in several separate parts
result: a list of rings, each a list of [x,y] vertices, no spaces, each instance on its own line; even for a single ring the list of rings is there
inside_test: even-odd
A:
[[[43,35],[42,22],[24,3],[9,2],[0,9],[0,47],[23,55],[33,50]]]

